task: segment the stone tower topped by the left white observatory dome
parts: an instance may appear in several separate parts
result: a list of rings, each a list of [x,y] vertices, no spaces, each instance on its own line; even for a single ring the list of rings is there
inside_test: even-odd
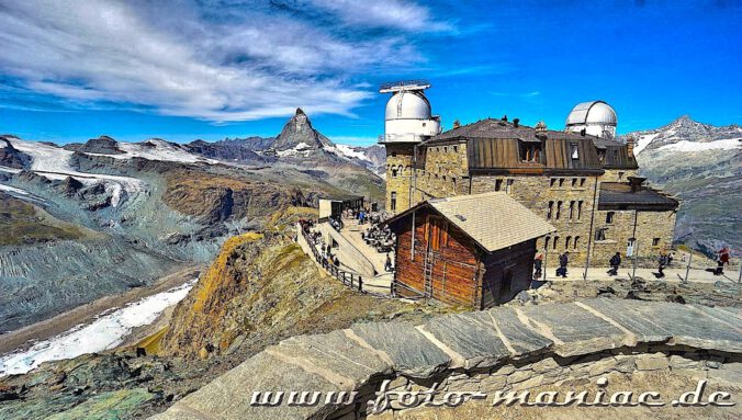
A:
[[[380,93],[392,93],[386,102],[384,135],[379,144],[386,149],[386,209],[404,212],[412,203],[416,146],[440,133],[440,117],[430,113],[424,91],[426,80],[384,83]]]

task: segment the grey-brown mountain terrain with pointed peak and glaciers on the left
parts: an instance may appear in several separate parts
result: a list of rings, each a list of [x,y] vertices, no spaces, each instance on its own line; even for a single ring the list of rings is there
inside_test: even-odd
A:
[[[209,262],[276,211],[349,193],[381,201],[383,181],[301,110],[245,141],[0,136],[0,330]]]

